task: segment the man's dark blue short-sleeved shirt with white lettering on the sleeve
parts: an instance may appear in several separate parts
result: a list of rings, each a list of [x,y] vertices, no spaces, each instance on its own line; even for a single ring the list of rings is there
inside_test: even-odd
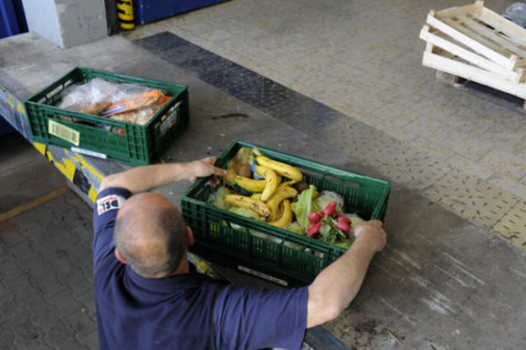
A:
[[[300,349],[307,287],[266,290],[198,273],[143,278],[119,262],[113,226],[128,190],[102,190],[93,214],[100,349]],[[214,334],[214,335],[213,335]]]

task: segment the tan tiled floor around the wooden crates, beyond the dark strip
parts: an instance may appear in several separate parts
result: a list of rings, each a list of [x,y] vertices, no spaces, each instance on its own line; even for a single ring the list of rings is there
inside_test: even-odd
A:
[[[324,142],[523,249],[524,114],[438,84],[421,65],[427,12],[454,5],[464,4],[231,1],[126,36],[169,31],[371,126],[359,150],[347,131]]]

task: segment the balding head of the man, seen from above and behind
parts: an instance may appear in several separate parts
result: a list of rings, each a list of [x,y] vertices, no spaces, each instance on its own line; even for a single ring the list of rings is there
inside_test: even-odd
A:
[[[186,226],[163,195],[140,193],[122,205],[113,240],[135,273],[160,278],[179,266],[187,246]]]

